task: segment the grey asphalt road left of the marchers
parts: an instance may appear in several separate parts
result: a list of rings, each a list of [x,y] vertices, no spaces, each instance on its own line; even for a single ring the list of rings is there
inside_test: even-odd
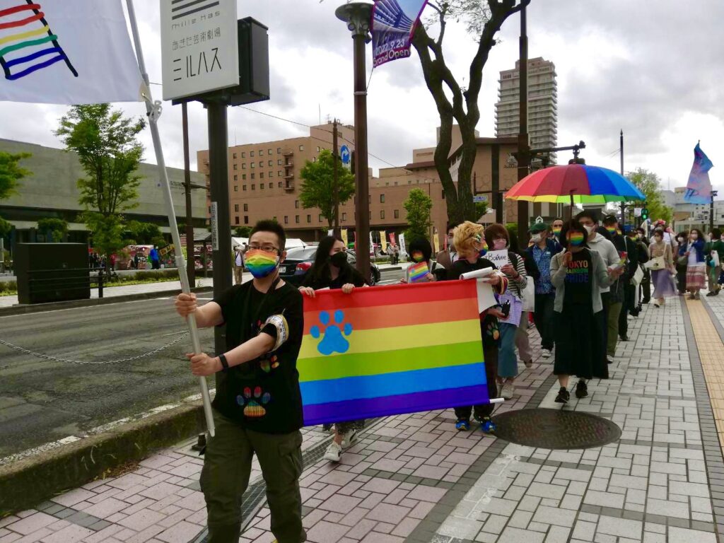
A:
[[[381,284],[398,282],[402,273],[383,270]],[[185,324],[169,298],[0,317],[0,339],[77,361],[148,353],[181,332]],[[201,346],[214,352],[212,330],[201,330]],[[197,381],[183,358],[187,350],[185,338],[138,361],[91,365],[48,361],[0,345],[0,458],[196,394]]]

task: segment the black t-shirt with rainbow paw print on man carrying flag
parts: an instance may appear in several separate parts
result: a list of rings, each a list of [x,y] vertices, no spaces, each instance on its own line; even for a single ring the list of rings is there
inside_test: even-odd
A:
[[[240,426],[264,434],[300,429],[304,424],[297,371],[304,333],[301,293],[288,283],[259,292],[250,281],[231,287],[214,301],[226,323],[227,350],[256,337],[261,329],[276,337],[276,329],[264,325],[272,315],[284,317],[288,337],[274,352],[222,371],[214,408]]]

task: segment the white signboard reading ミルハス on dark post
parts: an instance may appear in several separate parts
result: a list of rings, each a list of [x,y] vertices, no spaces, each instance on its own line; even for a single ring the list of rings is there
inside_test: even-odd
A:
[[[236,0],[161,0],[164,100],[239,84]]]

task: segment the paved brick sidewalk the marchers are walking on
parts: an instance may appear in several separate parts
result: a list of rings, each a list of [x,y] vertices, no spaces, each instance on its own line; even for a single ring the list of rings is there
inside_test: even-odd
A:
[[[724,541],[717,539],[724,534],[724,462],[691,329],[704,307],[724,313],[717,302],[647,307],[630,321],[631,341],[619,344],[611,379],[592,381],[588,398],[565,407],[618,424],[622,435],[611,445],[522,447],[477,429],[455,432],[451,411],[433,411],[371,421],[335,466],[317,459],[329,436],[306,429],[301,484],[309,540]],[[551,369],[536,349],[534,366],[521,366],[516,396],[499,412],[560,409]],[[206,521],[201,460],[183,451],[163,451],[132,473],[1,520],[0,543],[195,540]],[[269,511],[251,513],[240,541],[271,542]]]

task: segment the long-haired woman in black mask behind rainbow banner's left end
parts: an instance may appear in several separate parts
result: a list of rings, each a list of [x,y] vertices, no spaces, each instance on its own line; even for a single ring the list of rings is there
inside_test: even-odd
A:
[[[314,291],[323,288],[340,289],[345,294],[351,294],[355,288],[367,286],[369,285],[362,274],[350,266],[347,249],[342,239],[327,236],[319,242],[314,262],[302,279],[299,291],[314,298],[316,296]],[[334,439],[327,447],[324,458],[330,462],[339,462],[342,452],[358,441],[358,434],[363,428],[364,420],[334,424]]]

